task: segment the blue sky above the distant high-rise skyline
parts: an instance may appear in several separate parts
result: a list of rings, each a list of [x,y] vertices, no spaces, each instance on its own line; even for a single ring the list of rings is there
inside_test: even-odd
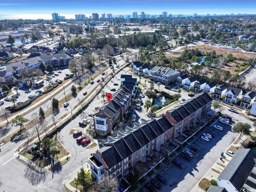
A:
[[[255,0],[0,0],[0,19],[51,19],[58,12],[66,18],[93,12],[132,14],[230,14],[256,13]]]

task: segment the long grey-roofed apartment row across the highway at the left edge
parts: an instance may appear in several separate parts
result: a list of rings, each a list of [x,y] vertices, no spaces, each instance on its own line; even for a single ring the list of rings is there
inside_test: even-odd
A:
[[[18,74],[23,69],[38,68],[40,63],[43,63],[45,66],[52,65],[53,67],[67,66],[70,59],[72,58],[67,54],[55,54],[41,55],[11,63],[0,67],[0,82],[7,84],[14,78],[14,74]]]

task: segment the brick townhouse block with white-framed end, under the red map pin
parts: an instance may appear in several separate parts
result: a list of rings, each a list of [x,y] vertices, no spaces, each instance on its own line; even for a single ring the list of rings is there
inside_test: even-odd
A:
[[[109,102],[93,115],[94,130],[99,135],[111,134],[117,123],[122,122],[131,106],[132,92],[126,87],[117,90]]]

